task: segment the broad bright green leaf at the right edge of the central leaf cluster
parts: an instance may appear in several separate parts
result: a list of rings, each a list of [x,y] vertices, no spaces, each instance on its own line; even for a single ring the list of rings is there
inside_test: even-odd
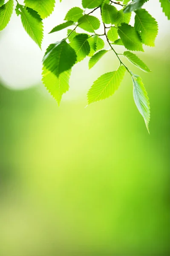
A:
[[[148,46],[155,46],[155,38],[158,34],[156,20],[145,10],[135,12],[135,29],[141,36],[141,40]]]

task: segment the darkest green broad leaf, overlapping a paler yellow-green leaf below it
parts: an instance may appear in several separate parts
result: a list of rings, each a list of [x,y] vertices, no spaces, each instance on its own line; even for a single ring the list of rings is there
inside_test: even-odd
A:
[[[43,64],[55,76],[71,69],[77,60],[75,50],[67,44],[65,39],[55,44],[50,44],[43,57]]]

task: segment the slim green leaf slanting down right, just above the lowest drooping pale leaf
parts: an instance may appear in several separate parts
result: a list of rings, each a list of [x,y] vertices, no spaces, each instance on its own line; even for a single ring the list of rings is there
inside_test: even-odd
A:
[[[141,61],[140,58],[138,58],[138,56],[136,56],[134,53],[132,52],[124,52],[124,56],[136,67],[140,68],[141,70],[143,70],[144,72],[150,72],[151,70],[147,67],[146,64],[144,64],[143,61]]]

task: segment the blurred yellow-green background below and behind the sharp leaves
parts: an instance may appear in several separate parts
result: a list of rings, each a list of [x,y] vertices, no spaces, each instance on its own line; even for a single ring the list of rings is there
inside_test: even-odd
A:
[[[170,256],[170,37],[161,36],[137,53],[152,73],[128,64],[150,98],[150,135],[128,74],[84,108],[92,82],[118,67],[113,54],[90,71],[86,60],[73,67],[60,108],[43,84],[14,90],[1,80],[0,256]],[[14,72],[28,65],[18,57],[6,62],[11,80],[28,73]]]

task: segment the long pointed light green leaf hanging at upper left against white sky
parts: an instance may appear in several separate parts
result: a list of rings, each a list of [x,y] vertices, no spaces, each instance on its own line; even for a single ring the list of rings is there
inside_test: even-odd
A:
[[[19,4],[17,4],[16,13],[17,15],[21,15],[24,29],[41,49],[41,42],[43,40],[43,22],[40,15],[33,9]]]

